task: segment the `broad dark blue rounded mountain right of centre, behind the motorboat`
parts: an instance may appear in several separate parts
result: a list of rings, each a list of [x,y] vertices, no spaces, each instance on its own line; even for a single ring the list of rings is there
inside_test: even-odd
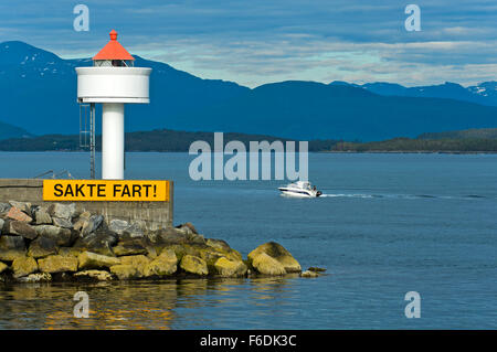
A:
[[[198,118],[199,117],[199,118]],[[497,108],[441,98],[380,96],[347,85],[267,84],[181,115],[180,129],[237,130],[294,139],[380,140],[497,126]]]

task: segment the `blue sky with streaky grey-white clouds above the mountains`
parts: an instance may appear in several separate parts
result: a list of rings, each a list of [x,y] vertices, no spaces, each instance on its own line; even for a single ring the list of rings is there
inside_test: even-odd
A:
[[[89,31],[74,30],[80,3]],[[405,29],[408,4],[421,31]],[[131,54],[248,87],[497,81],[496,23],[496,0],[0,0],[0,42],[88,57],[115,29]]]

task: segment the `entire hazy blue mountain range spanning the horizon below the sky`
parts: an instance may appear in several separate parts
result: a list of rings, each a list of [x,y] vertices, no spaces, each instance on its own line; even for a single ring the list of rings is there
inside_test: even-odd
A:
[[[250,89],[135,57],[137,66],[152,68],[151,103],[126,106],[127,131],[169,128],[299,140],[379,140],[497,126],[497,107],[491,106],[497,103],[490,104],[496,98],[493,83],[470,89],[448,83],[413,89],[393,84],[281,82]],[[1,43],[0,103],[6,116],[14,118],[9,122],[33,135],[77,134],[74,68],[91,64],[89,58],[63,60],[23,42]]]

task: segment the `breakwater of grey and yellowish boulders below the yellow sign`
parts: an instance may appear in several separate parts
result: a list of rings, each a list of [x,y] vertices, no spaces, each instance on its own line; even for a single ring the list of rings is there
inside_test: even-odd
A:
[[[246,277],[300,273],[277,243],[247,259],[192,224],[147,231],[144,224],[77,212],[75,204],[0,203],[0,281]]]

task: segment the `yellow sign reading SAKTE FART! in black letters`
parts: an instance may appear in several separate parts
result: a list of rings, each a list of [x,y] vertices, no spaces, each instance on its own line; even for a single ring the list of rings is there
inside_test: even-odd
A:
[[[169,181],[43,180],[44,201],[168,202]]]

